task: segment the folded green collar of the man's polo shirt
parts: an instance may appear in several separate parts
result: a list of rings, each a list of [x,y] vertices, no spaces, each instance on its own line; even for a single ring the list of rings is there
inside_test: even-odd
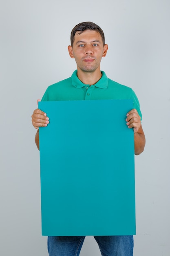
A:
[[[101,88],[101,89],[106,89],[108,87],[108,77],[106,76],[104,71],[101,71],[102,77],[101,79],[94,84],[95,87]],[[82,81],[79,80],[77,77],[77,70],[75,70],[71,76],[72,79],[72,84],[76,88],[82,88],[86,86],[86,84],[82,83]]]

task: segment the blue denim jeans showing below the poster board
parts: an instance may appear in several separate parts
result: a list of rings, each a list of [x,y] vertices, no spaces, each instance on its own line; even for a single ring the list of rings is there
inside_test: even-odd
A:
[[[85,236],[49,236],[49,256],[79,256]],[[102,256],[132,256],[133,236],[94,236]]]

